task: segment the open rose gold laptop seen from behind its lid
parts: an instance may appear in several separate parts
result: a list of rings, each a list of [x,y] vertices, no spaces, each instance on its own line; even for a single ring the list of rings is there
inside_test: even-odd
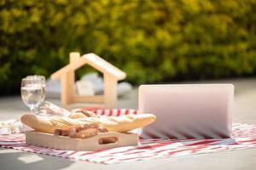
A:
[[[142,137],[212,139],[231,136],[232,84],[142,85],[139,113],[153,113],[156,122]]]

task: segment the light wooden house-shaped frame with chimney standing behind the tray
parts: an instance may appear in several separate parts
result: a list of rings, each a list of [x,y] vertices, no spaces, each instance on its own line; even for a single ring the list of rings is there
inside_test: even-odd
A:
[[[104,82],[103,95],[80,96],[74,94],[74,71],[83,65],[90,65],[102,72]],[[96,54],[69,54],[69,64],[55,71],[52,79],[61,78],[61,105],[67,109],[84,108],[114,108],[117,104],[117,83],[126,77],[125,72],[108,63]]]

